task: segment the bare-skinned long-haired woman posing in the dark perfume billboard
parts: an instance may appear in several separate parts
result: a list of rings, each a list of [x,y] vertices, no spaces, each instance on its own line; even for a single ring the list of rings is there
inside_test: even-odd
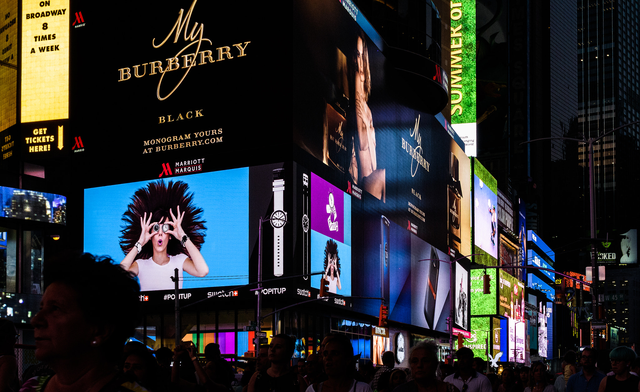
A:
[[[369,52],[363,31],[356,38],[353,56],[355,71],[355,120],[356,136],[351,148],[349,174],[355,184],[376,198],[386,200],[385,169],[378,168],[376,159],[376,130],[373,127],[371,110],[367,105],[371,93]]]

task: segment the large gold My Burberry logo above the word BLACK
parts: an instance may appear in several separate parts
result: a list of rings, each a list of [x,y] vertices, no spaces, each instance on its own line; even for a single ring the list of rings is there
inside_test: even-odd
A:
[[[162,47],[164,43],[166,43],[169,40],[169,38],[172,36],[172,34],[175,32],[173,43],[177,43],[178,39],[180,38],[180,33],[182,33],[184,29],[184,35],[183,35],[184,41],[191,42],[191,43],[188,43],[185,47],[180,49],[180,51],[177,52],[175,56],[173,56],[172,58],[166,59],[165,66],[163,66],[162,60],[151,61],[150,63],[144,63],[144,64],[138,64],[138,65],[132,66],[133,75],[135,77],[143,77],[147,75],[147,65],[149,66],[149,75],[156,75],[158,73],[160,74],[160,80],[158,81],[158,87],[156,90],[156,96],[159,100],[165,100],[166,98],[170,97],[173,94],[173,91],[175,91],[180,86],[180,84],[182,84],[182,81],[184,81],[184,78],[187,76],[187,74],[189,74],[189,70],[195,67],[196,64],[206,65],[207,63],[215,63],[216,61],[233,59],[234,54],[236,54],[236,58],[246,56],[244,51],[246,50],[247,45],[251,41],[247,41],[243,43],[234,43],[233,45],[231,45],[234,49],[232,49],[229,46],[218,47],[216,48],[217,57],[215,59],[214,59],[213,51],[200,51],[200,47],[202,46],[202,43],[207,42],[209,43],[209,45],[213,45],[213,44],[211,43],[211,40],[209,40],[208,38],[203,38],[204,24],[202,23],[200,23],[200,25],[198,26],[198,22],[194,22],[193,27],[191,27],[191,30],[190,30],[191,33],[188,33],[189,20],[191,19],[191,15],[193,15],[193,8],[196,5],[196,1],[198,0],[193,0],[193,3],[191,3],[191,7],[189,8],[189,11],[186,13],[186,15],[184,14],[184,9],[180,9],[180,12],[178,13],[178,19],[176,20],[175,24],[171,28],[171,31],[169,31],[168,35],[164,38],[162,42],[156,45],[156,38],[154,38],[151,42],[153,47],[156,49],[159,47]],[[182,54],[184,51],[186,51],[189,47],[192,47],[193,45],[195,45],[195,51],[193,53]],[[182,58],[182,67],[180,67],[179,57]],[[198,58],[200,59],[199,62],[198,62]],[[140,68],[142,69],[140,70]],[[173,90],[171,90],[164,97],[161,97],[160,86],[162,84],[164,75],[167,72],[175,71],[179,68],[186,69],[184,71],[184,74],[182,74],[180,81],[178,81],[177,84],[173,87]],[[118,79],[118,82],[128,81],[129,79],[131,79],[131,68],[127,68],[127,67],[120,68],[118,69],[118,71],[120,72],[120,79]]]

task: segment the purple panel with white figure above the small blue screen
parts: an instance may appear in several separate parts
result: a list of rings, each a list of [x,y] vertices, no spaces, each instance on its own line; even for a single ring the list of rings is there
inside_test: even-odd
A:
[[[311,173],[311,229],[344,243],[343,192]]]

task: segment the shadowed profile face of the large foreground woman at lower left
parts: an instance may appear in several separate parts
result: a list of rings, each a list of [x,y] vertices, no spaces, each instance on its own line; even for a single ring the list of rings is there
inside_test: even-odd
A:
[[[45,290],[40,311],[31,318],[38,361],[77,356],[90,349],[95,327],[86,322],[77,295],[69,286],[57,282]]]

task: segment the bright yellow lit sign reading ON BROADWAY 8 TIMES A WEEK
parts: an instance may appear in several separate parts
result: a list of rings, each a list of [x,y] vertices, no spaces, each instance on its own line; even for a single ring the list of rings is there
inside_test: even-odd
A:
[[[22,1],[20,121],[69,117],[69,1]]]

